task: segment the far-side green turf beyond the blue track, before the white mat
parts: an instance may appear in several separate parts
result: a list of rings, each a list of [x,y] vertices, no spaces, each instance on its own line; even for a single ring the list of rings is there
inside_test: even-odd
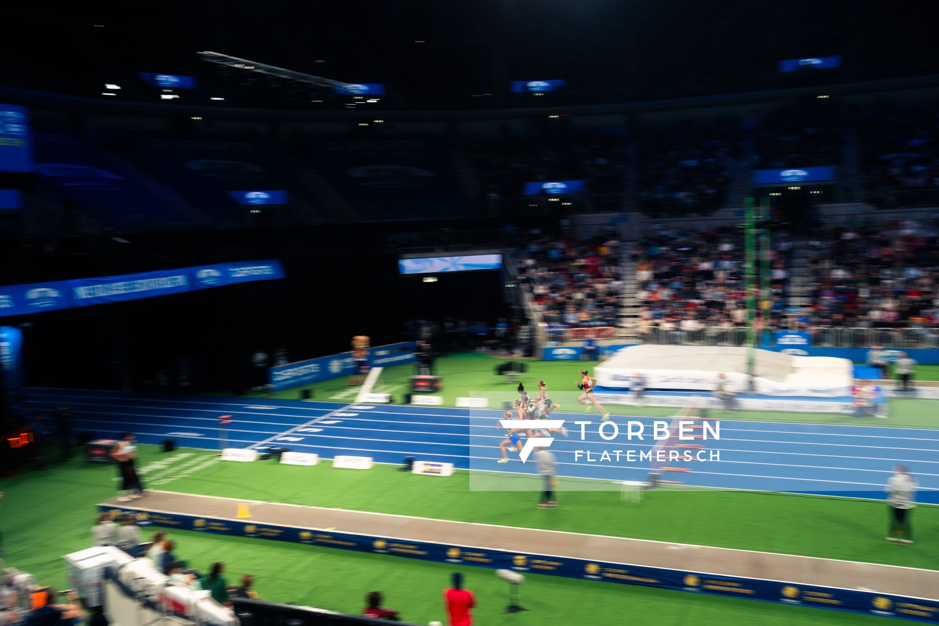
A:
[[[443,397],[443,404],[454,406],[456,398],[473,397],[486,398],[489,406],[500,407],[504,400],[515,400],[516,384],[507,382],[504,376],[496,374],[496,368],[505,360],[483,353],[466,353],[449,357],[441,357],[435,361],[434,371],[443,377],[443,389],[439,395]],[[516,359],[517,360],[517,359]],[[578,373],[583,369],[593,369],[596,361],[539,361],[525,360],[527,372],[521,374],[519,381],[525,384],[526,389],[532,392],[537,390],[538,380],[545,380],[551,391],[554,402],[562,405],[563,410],[578,411],[581,405],[577,403],[580,391]],[[937,367],[937,366],[924,366]],[[404,394],[408,391],[408,379],[415,374],[413,365],[395,365],[382,370],[373,391],[391,393],[394,403],[401,403]],[[939,370],[937,370],[939,375]],[[286,389],[274,393],[251,392],[249,397],[269,397],[298,399],[303,390],[313,393],[314,400],[328,402],[353,402],[359,388],[349,386],[348,377],[333,378],[313,385],[306,385],[295,389]],[[838,413],[787,413],[782,411],[736,411],[724,413],[714,411],[717,417],[723,420],[761,420],[761,421],[794,421],[805,423],[825,424],[866,424],[870,426],[902,426],[911,428],[939,428],[939,419],[936,418],[934,400],[921,399],[891,399],[889,418],[858,419]],[[678,411],[669,406],[635,407],[628,405],[607,405],[607,410],[614,415],[632,415],[640,417],[672,416]]]

